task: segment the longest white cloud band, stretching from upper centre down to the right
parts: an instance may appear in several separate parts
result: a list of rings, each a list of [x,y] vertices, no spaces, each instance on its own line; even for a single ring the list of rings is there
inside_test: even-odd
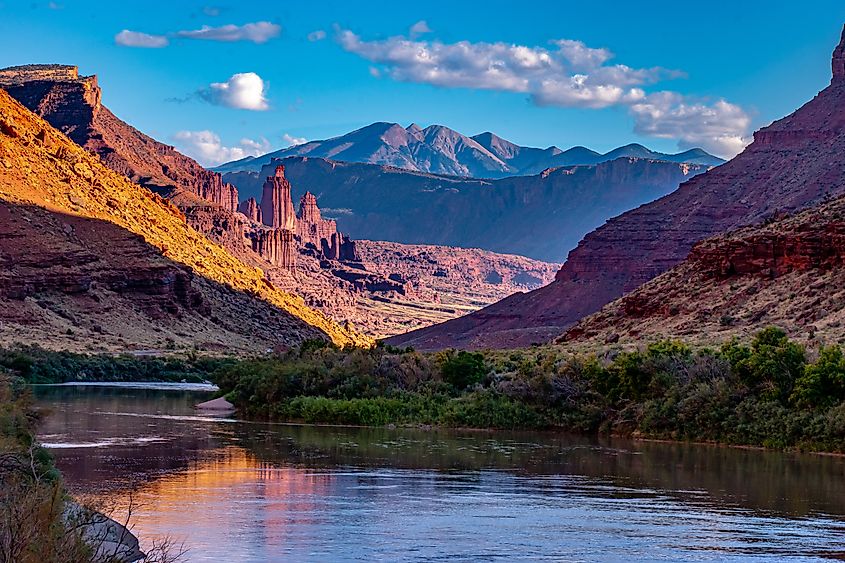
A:
[[[610,50],[581,41],[558,39],[548,48],[443,43],[416,40],[413,28],[410,38],[375,41],[338,29],[337,40],[346,51],[374,63],[373,76],[443,88],[523,93],[540,106],[621,106],[633,116],[637,133],[677,139],[683,148],[702,146],[721,156],[731,157],[748,143],[751,120],[741,107],[675,92],[649,93],[648,86],[683,73],[613,64]]]

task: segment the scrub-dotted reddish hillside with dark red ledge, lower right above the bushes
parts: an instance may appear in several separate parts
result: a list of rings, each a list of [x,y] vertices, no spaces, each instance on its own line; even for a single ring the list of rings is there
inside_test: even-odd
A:
[[[769,325],[845,343],[845,198],[700,242],[680,265],[558,340],[712,343]]]

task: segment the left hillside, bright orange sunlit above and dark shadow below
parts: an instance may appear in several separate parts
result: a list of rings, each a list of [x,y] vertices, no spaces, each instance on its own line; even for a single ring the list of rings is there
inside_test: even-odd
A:
[[[0,342],[127,350],[367,343],[0,90]]]

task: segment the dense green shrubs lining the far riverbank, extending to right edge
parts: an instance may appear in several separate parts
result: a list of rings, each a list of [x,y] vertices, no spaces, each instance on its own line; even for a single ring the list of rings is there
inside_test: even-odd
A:
[[[845,359],[782,331],[750,345],[421,354],[309,345],[215,374],[249,418],[350,425],[560,429],[845,452]]]

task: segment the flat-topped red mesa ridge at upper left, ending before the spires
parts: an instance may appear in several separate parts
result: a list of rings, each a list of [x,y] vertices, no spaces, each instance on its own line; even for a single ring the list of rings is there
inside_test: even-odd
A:
[[[237,210],[237,189],[220,174],[115,117],[102,104],[96,76],[79,76],[75,66],[26,65],[0,70],[0,87],[133,182]]]

